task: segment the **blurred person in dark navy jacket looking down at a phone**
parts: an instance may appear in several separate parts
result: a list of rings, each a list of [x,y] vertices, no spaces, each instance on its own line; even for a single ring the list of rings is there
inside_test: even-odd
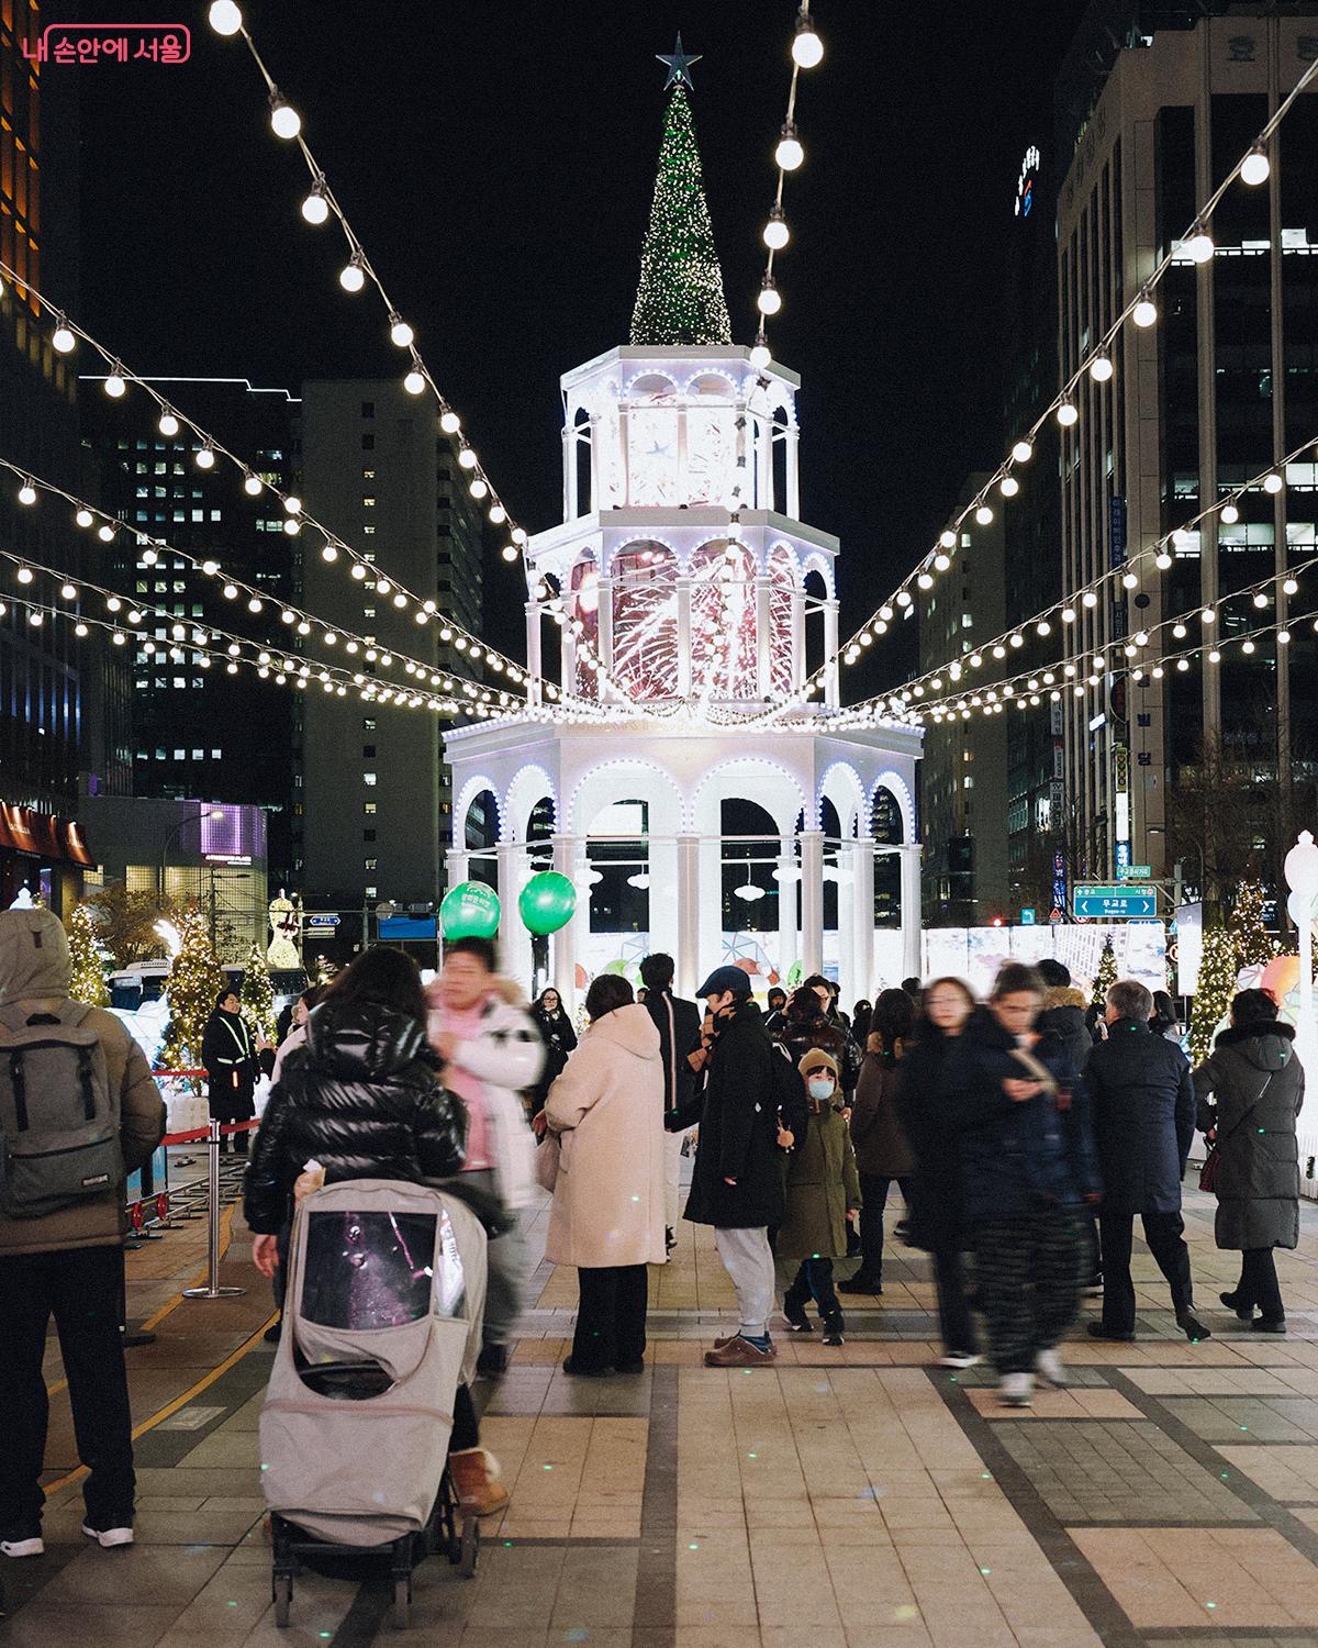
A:
[[[1056,1037],[1033,1033],[1041,1005],[1038,972],[1008,962],[946,1066],[988,1346],[1015,1407],[1036,1369],[1066,1383],[1054,1345],[1079,1304],[1079,1210],[1101,1198],[1084,1083]]]

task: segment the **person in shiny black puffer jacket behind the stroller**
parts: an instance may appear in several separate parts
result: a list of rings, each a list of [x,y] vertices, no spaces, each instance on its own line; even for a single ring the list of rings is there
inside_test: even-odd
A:
[[[262,1274],[273,1277],[287,1264],[295,1185],[308,1162],[320,1163],[328,1183],[422,1183],[461,1168],[466,1111],[440,1086],[427,1010],[415,962],[376,946],[334,979],[311,1012],[305,1045],[280,1068],[242,1187],[244,1218],[255,1236],[252,1261]],[[460,1384],[450,1462],[463,1506],[486,1516],[507,1505],[507,1490],[479,1444],[471,1393]]]

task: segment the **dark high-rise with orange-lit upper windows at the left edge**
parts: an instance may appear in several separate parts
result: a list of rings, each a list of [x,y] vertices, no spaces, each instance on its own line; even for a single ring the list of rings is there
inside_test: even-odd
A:
[[[74,371],[51,348],[51,316],[25,280],[76,300],[76,105],[48,94],[35,61],[43,16],[30,0],[0,0],[0,453],[41,480],[79,485]],[[84,534],[69,511],[43,496],[15,501],[16,481],[0,483],[0,544],[35,565],[76,575]],[[58,603],[44,575],[13,580],[0,567],[0,906],[20,888],[68,906],[89,865],[77,821],[77,775],[94,766],[125,780],[122,735],[104,714],[112,694],[96,638],[48,616]]]

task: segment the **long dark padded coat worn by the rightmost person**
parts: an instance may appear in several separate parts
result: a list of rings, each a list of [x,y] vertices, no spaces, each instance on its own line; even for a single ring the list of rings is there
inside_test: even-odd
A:
[[[1290,1025],[1236,1025],[1222,1030],[1194,1071],[1199,1127],[1216,1127],[1221,1149],[1219,1248],[1295,1248],[1300,1241],[1295,1117],[1305,1103],[1305,1068],[1293,1042]]]

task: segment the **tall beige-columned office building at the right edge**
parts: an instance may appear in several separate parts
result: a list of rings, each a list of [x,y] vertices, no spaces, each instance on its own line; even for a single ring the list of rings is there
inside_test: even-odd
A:
[[[1140,10],[1160,8],[1124,13]],[[1189,880],[1213,883],[1214,859],[1227,865],[1221,817],[1206,804],[1196,822],[1185,798],[1234,775],[1242,847],[1275,873],[1295,783],[1318,761],[1315,638],[1300,623],[1318,606],[1318,574],[1302,570],[1318,554],[1318,465],[1313,452],[1282,465],[1318,437],[1318,94],[1285,117],[1269,180],[1222,198],[1213,255],[1196,262],[1183,237],[1318,56],[1318,5],[1178,21],[1112,31],[1125,44],[1087,109],[1076,74],[1063,81],[1061,140],[1074,145],[1058,206],[1063,381],[1171,254],[1158,323],[1122,330],[1114,379],[1086,376],[1061,440],[1064,585],[1109,575],[1066,631],[1086,658],[1081,681],[1099,676],[1063,700],[1066,806],[1081,873],[1109,880],[1135,862],[1158,875],[1178,857]],[[1236,519],[1203,516],[1272,466],[1280,489],[1252,488]],[[1120,569],[1178,527],[1166,570],[1145,557],[1125,588]],[[1290,644],[1275,628],[1250,639],[1292,616]],[[1188,656],[1135,681],[1142,654],[1170,651]]]

